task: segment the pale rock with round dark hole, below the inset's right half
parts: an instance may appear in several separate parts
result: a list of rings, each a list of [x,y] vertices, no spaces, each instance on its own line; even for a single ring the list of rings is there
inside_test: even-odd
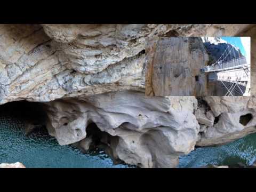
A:
[[[219,145],[256,132],[255,97],[209,96],[204,100],[216,120],[214,125],[198,121],[206,125],[198,146]]]

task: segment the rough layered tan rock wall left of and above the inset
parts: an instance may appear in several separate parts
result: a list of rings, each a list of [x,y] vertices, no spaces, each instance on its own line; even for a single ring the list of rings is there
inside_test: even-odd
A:
[[[146,37],[171,31],[184,36],[235,35],[249,27],[180,24],[42,26],[0,26],[0,103],[23,99],[51,101],[120,90],[143,91]]]

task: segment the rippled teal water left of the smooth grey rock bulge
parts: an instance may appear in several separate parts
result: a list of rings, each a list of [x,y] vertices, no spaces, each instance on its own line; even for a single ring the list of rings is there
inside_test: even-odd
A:
[[[87,155],[72,146],[60,146],[46,130],[25,136],[22,126],[18,119],[0,114],[0,163],[21,162],[26,167],[129,167],[113,165],[103,151]]]

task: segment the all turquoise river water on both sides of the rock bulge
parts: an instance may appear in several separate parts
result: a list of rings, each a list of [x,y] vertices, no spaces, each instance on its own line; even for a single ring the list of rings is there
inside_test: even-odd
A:
[[[28,114],[38,114],[38,111],[31,113],[32,109],[38,107],[19,105],[15,110],[11,107],[11,105],[0,107],[0,163],[21,162],[26,167],[133,167],[125,164],[114,165],[103,151],[83,154],[73,146],[60,146],[45,129],[26,136],[22,131],[22,119],[26,118],[27,114],[22,109],[27,109]],[[7,109],[9,109],[8,113]],[[13,111],[19,115],[7,115],[13,114]],[[23,116],[19,117],[20,114]],[[238,162],[251,165],[255,160],[256,133],[227,145],[196,148],[190,154],[180,157],[179,167],[234,165]]]

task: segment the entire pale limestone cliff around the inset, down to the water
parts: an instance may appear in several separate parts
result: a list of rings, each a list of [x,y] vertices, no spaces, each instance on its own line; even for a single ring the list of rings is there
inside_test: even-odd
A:
[[[108,135],[115,158],[175,167],[196,142],[214,145],[226,142],[226,135],[254,132],[256,101],[145,97],[145,39],[251,34],[253,52],[255,31],[251,25],[210,24],[0,25],[0,103],[45,102],[47,129],[60,145],[83,145],[87,125],[95,123]],[[252,81],[254,62],[252,55]],[[239,124],[248,113],[252,119]]]

